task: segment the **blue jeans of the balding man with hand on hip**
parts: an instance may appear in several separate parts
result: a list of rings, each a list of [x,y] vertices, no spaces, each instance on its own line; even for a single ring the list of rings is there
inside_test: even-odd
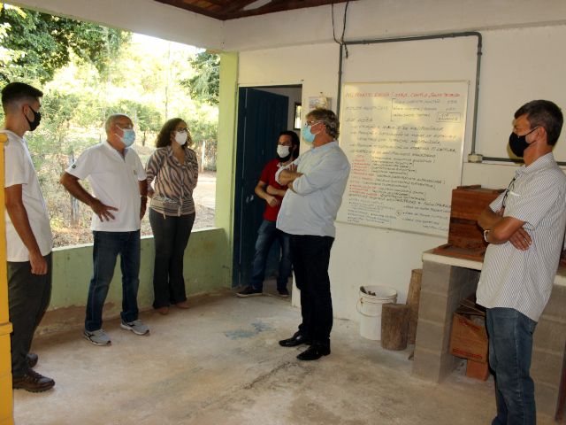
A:
[[[85,329],[94,331],[103,326],[103,306],[116,259],[120,254],[122,270],[122,321],[138,318],[138,287],[140,286],[140,231],[99,232],[93,231],[95,245],[92,251],[94,274],[88,288]]]

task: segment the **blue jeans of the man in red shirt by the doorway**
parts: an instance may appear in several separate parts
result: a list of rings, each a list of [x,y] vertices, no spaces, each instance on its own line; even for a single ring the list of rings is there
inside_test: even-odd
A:
[[[279,260],[279,275],[277,276],[277,289],[287,288],[287,281],[291,274],[291,251],[289,248],[289,236],[275,227],[275,221],[264,220],[257,230],[256,253],[252,263],[252,272],[249,285],[254,290],[264,288],[265,264],[267,256],[275,239],[281,245],[281,259]]]

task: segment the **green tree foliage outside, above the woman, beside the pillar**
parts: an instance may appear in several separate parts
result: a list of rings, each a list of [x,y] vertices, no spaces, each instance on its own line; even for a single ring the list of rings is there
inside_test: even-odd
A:
[[[203,51],[188,62],[195,69],[195,76],[180,81],[180,85],[197,101],[218,105],[218,90],[220,88],[220,56]]]

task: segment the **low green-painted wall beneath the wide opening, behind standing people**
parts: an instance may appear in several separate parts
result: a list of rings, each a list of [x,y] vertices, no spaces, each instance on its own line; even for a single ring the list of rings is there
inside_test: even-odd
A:
[[[187,296],[230,287],[231,259],[226,258],[226,246],[226,231],[222,228],[195,230],[191,234],[184,263]],[[143,237],[138,291],[140,311],[152,308],[154,257],[153,237]],[[53,252],[51,302],[38,329],[39,333],[59,332],[82,325],[91,277],[91,244],[56,249]],[[118,260],[104,305],[104,318],[118,317],[121,305],[122,283]]]

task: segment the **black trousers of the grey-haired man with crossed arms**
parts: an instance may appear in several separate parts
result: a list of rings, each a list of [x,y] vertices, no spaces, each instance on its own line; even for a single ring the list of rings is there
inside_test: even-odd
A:
[[[297,288],[301,290],[302,335],[314,344],[330,347],[333,300],[330,295],[328,263],[334,238],[291,235],[291,259]]]

